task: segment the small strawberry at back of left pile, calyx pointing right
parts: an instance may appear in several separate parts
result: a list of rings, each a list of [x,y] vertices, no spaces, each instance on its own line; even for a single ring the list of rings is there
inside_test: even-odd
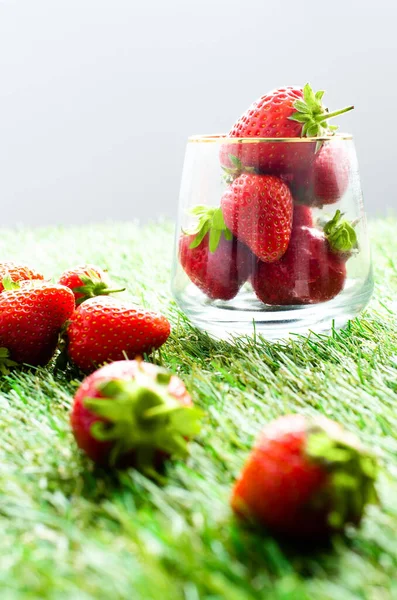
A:
[[[125,289],[111,289],[106,274],[94,265],[83,265],[65,271],[59,283],[73,291],[77,305],[88,298],[123,292]]]

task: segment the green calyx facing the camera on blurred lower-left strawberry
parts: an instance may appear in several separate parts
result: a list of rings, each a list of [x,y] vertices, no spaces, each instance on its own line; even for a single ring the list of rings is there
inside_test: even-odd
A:
[[[156,452],[181,458],[188,454],[187,438],[199,432],[202,413],[168,393],[170,379],[171,374],[160,368],[154,379],[140,370],[132,381],[101,382],[102,397],[84,399],[88,410],[105,419],[91,426],[91,435],[113,443],[111,465],[134,451],[137,467],[153,474]]]

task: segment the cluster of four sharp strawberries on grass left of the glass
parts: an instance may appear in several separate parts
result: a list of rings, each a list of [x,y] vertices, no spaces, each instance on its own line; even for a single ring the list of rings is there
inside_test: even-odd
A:
[[[170,334],[162,315],[109,294],[106,273],[85,265],[54,284],[27,265],[0,263],[0,365],[46,365],[62,346],[85,373],[159,348]]]

